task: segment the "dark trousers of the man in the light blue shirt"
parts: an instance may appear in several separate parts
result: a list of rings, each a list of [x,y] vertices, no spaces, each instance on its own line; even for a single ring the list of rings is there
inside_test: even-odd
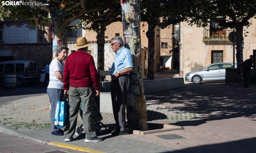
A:
[[[113,114],[115,122],[117,123],[117,130],[122,132],[129,131],[125,121],[125,106],[127,95],[129,91],[130,78],[127,76],[120,76],[117,80],[111,80],[111,99]]]

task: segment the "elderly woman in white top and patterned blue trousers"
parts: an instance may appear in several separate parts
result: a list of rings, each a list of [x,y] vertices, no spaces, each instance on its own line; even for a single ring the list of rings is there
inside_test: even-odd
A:
[[[56,112],[57,101],[63,100],[64,90],[63,90],[63,72],[64,72],[64,60],[67,57],[68,48],[66,46],[60,45],[56,49],[55,58],[52,60],[49,66],[50,81],[47,88],[47,94],[51,103],[51,128],[52,135],[61,136],[63,131],[54,126],[54,116]]]

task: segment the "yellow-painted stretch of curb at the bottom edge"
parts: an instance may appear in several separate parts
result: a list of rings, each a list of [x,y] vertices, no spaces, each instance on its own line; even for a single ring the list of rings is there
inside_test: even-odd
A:
[[[70,145],[70,144],[65,144],[65,143],[61,143],[61,142],[49,142],[49,145],[54,145],[57,147],[62,147],[62,148],[68,148],[68,149],[72,149],[72,150],[78,150],[78,151],[82,151],[82,152],[89,152],[89,153],[104,153],[104,152],[100,152],[94,149],[90,149],[90,148],[86,148],[86,147],[80,147],[77,145]]]

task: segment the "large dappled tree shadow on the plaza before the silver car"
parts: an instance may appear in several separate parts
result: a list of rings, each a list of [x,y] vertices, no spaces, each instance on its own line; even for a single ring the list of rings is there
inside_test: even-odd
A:
[[[179,126],[197,126],[209,120],[247,117],[256,120],[256,88],[243,85],[186,84],[186,90],[147,95],[147,102],[200,114],[201,120],[176,122]],[[174,124],[174,125],[175,125]]]

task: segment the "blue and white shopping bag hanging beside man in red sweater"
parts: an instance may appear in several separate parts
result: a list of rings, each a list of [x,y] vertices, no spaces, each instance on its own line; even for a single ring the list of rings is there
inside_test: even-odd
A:
[[[62,128],[66,125],[66,118],[68,112],[67,94],[64,95],[62,102],[58,101],[56,105],[56,112],[54,117],[54,125],[56,128]]]

